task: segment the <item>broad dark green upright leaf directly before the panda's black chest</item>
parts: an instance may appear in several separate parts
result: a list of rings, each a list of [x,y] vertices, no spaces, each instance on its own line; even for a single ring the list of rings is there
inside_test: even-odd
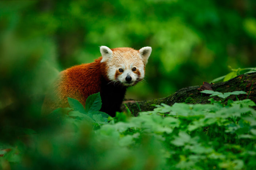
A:
[[[90,95],[85,102],[85,111],[87,113],[96,112],[101,109],[101,95],[98,93]]]

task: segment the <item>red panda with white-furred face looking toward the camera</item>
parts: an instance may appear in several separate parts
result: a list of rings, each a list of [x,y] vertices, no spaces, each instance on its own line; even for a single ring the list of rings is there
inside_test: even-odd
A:
[[[120,111],[127,87],[143,80],[151,47],[109,49],[101,46],[102,57],[92,63],[70,67],[60,73],[42,106],[44,113],[69,107],[67,97],[83,106],[88,96],[100,92],[102,112],[115,116]]]

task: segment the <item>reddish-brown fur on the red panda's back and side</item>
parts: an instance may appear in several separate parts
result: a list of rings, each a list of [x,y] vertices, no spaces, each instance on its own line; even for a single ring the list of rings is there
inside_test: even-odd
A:
[[[98,93],[101,88],[101,75],[106,75],[106,65],[101,63],[102,57],[93,63],[77,65],[60,72],[53,90],[46,94],[42,106],[44,113],[59,107],[69,107],[67,97],[77,99],[82,105],[88,96]],[[107,77],[104,76],[105,79]]]

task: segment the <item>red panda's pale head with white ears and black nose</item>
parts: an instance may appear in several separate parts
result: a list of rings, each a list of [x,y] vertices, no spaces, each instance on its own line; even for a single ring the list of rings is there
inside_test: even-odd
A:
[[[108,79],[114,84],[117,82],[123,86],[132,86],[143,80],[152,49],[143,47],[138,51],[129,47],[109,49],[101,46],[100,51]]]

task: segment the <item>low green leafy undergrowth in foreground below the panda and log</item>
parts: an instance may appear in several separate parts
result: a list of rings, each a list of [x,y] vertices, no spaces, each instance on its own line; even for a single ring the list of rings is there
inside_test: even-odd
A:
[[[202,93],[225,100],[242,91]],[[30,143],[0,143],[0,167],[7,169],[253,169],[256,159],[256,111],[249,99],[211,104],[156,105],[153,111],[112,118],[99,112],[99,93],[88,109],[69,98],[71,108],[54,129],[25,130]],[[94,107],[93,107],[94,106]],[[94,108],[94,109],[91,109]],[[108,116],[108,119],[106,118]],[[47,138],[46,138],[47,136]],[[33,147],[32,147],[33,146]],[[68,160],[68,161],[67,161]]]

